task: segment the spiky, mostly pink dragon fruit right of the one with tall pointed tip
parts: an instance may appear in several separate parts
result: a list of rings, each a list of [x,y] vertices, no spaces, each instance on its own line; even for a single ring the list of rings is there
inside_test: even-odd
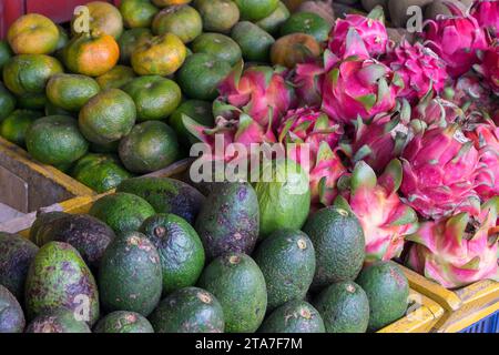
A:
[[[404,81],[400,98],[416,103],[430,90],[439,94],[447,80],[445,62],[421,43],[403,41],[390,49],[385,63],[397,72]]]

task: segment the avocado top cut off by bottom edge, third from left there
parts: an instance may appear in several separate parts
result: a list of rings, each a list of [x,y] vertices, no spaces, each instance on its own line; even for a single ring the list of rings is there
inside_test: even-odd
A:
[[[141,314],[116,311],[100,320],[93,333],[154,333],[154,329]]]

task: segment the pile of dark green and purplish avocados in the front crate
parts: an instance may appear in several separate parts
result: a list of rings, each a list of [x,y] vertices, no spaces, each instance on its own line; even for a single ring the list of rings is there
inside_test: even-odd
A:
[[[406,276],[364,264],[348,209],[259,230],[248,183],[126,180],[89,214],[40,214],[30,240],[0,233],[0,333],[364,333],[407,312]]]

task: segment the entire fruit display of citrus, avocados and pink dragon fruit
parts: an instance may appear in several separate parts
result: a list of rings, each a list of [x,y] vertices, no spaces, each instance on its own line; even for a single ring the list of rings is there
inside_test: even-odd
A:
[[[414,272],[499,282],[497,3],[21,17],[0,135],[102,194],[0,232],[0,333],[374,333],[414,321]]]

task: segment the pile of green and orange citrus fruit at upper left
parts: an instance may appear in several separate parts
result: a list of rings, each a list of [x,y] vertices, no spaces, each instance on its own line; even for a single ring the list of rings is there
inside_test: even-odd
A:
[[[86,8],[86,13],[65,27],[29,13],[0,41],[0,135],[98,192],[185,156],[182,114],[212,126],[218,84],[242,60],[293,67],[294,49],[319,51],[330,29],[277,0]]]

